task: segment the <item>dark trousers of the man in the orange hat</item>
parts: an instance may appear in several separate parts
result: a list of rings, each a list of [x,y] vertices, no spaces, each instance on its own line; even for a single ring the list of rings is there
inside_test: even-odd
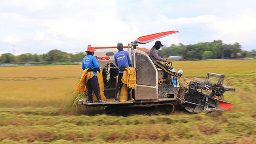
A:
[[[101,101],[97,76],[93,76],[87,82],[88,101],[92,101],[92,90],[94,90],[94,94],[95,94],[97,100]]]

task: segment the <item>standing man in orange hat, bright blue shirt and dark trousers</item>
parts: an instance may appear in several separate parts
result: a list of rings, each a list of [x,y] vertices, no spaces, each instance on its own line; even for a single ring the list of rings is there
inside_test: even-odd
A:
[[[97,59],[93,56],[94,51],[96,51],[93,47],[88,47],[87,55],[82,60],[82,69],[85,70],[87,68],[89,69],[99,69],[99,65],[97,62]],[[100,97],[100,91],[99,91],[99,84],[98,84],[98,77],[97,77],[97,71],[93,71],[94,76],[90,78],[87,82],[87,93],[88,93],[88,103],[93,102],[92,101],[92,90],[95,93],[95,96],[98,100],[98,102],[105,102]]]

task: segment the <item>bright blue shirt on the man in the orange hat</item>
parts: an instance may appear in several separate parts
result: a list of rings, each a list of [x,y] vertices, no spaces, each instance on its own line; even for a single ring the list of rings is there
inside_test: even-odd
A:
[[[87,68],[89,68],[89,69],[99,68],[99,64],[97,62],[97,59],[92,55],[87,55],[83,58],[82,69],[85,70]],[[96,71],[94,71],[93,74],[95,76],[97,76]]]

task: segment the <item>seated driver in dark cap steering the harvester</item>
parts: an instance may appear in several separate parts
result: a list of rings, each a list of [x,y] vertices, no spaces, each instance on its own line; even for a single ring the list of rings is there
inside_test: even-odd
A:
[[[160,69],[164,70],[164,77],[163,77],[163,82],[164,83],[168,83],[170,82],[169,80],[167,80],[167,74],[170,74],[172,76],[177,76],[176,72],[172,72],[166,65],[162,64],[160,61],[163,62],[167,62],[170,63],[169,60],[167,59],[163,59],[161,57],[158,56],[157,51],[163,47],[164,45],[162,45],[162,43],[160,41],[156,41],[155,45],[152,47],[152,49],[149,52],[149,57],[151,58],[151,60],[153,61],[153,63],[155,65],[157,65]]]

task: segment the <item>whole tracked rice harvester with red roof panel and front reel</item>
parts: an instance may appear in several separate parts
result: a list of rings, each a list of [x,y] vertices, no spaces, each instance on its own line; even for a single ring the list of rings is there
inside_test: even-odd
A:
[[[116,91],[116,74],[106,80],[104,73],[112,74],[118,72],[114,65],[114,54],[116,47],[94,47],[95,56],[99,66],[103,70],[104,95],[108,99],[106,103],[87,103],[86,100],[79,100],[78,104],[86,106],[103,106],[105,113],[149,113],[149,114],[171,114],[178,102],[187,111],[199,113],[203,111],[223,111],[229,109],[233,104],[226,102],[235,92],[231,82],[224,75],[207,73],[206,78],[195,77],[194,81],[179,84],[180,76],[174,78],[168,74],[169,84],[161,83],[164,71],[154,65],[146,52],[141,51],[138,44],[146,44],[159,38],[178,33],[169,31],[139,37],[134,42],[124,46],[124,51],[128,51],[135,68],[136,88],[132,90],[134,101],[113,102]],[[176,72],[171,64],[165,63],[169,69]],[[108,70],[107,70],[108,69]],[[110,71],[109,71],[110,70]],[[224,85],[226,84],[226,85]]]

